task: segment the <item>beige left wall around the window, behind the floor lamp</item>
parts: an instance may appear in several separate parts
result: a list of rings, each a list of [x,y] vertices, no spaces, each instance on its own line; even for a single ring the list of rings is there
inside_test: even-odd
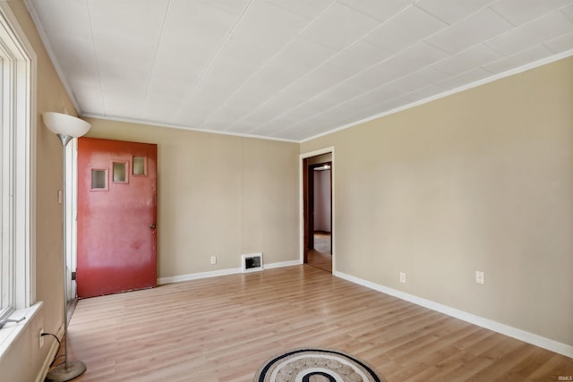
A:
[[[28,10],[21,0],[4,2],[20,23],[37,55],[36,79],[36,122],[33,126],[33,139],[36,140],[36,176],[32,191],[36,197],[36,277],[34,279],[36,301],[43,301],[30,325],[21,332],[0,359],[0,376],[7,381],[32,381],[37,377],[53,339],[45,338],[40,350],[38,330],[57,333],[63,325],[63,276],[62,269],[62,206],[57,203],[58,190],[62,189],[62,145],[56,135],[49,132],[42,123],[41,113],[45,111],[63,112],[64,108],[73,113],[73,104],[67,97],[62,83],[44,49]]]

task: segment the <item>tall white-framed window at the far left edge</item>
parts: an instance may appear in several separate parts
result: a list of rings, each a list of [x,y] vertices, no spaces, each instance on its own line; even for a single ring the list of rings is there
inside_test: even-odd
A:
[[[4,2],[3,2],[4,3]],[[0,318],[30,306],[33,51],[0,4]]]

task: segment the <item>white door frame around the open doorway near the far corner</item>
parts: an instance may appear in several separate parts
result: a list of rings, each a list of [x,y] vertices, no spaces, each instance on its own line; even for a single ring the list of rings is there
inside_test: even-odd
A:
[[[299,155],[299,168],[298,168],[298,173],[299,173],[299,212],[300,212],[300,219],[299,219],[299,235],[300,235],[300,247],[299,247],[299,251],[300,251],[300,262],[301,264],[304,264],[305,262],[305,257],[307,255],[307,251],[306,251],[306,242],[309,240],[309,238],[307,237],[307,232],[308,232],[308,225],[309,225],[309,219],[307,219],[307,216],[305,214],[305,208],[304,205],[307,203],[307,188],[305,187],[305,184],[307,183],[307,178],[309,176],[308,174],[308,166],[306,166],[306,159],[310,158],[310,157],[317,157],[320,156],[322,154],[331,154],[332,155],[332,160],[331,160],[331,167],[330,167],[330,193],[331,193],[331,197],[330,197],[330,203],[331,203],[331,208],[330,208],[330,219],[331,219],[331,224],[330,224],[330,230],[331,230],[331,235],[330,235],[330,240],[331,240],[331,248],[330,248],[330,252],[332,253],[332,274],[334,275],[336,272],[336,203],[335,203],[335,188],[334,188],[334,184],[335,184],[335,152],[334,152],[334,146],[330,146],[328,148],[324,148],[324,149],[318,149],[318,150],[314,150],[311,152],[307,152],[304,154],[300,154]]]

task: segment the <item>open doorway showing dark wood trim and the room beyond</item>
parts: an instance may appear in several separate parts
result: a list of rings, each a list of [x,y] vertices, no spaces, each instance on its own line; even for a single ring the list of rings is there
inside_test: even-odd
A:
[[[333,152],[301,156],[303,174],[303,262],[332,272],[333,229]]]

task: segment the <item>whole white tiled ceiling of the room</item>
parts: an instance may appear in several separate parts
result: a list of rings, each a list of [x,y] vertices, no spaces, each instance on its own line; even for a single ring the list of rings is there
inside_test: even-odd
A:
[[[573,0],[26,4],[80,115],[277,140],[573,55]]]

